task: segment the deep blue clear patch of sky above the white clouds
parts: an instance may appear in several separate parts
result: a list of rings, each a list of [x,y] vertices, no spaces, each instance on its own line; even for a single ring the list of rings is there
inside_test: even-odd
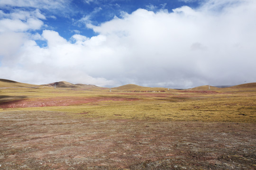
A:
[[[184,5],[189,5],[192,8],[197,8],[200,5],[200,1],[196,0],[187,2],[182,0],[70,0],[64,3],[66,3],[66,6],[60,12],[51,11],[47,8],[40,10],[46,17],[48,15],[44,23],[57,31],[65,39],[69,39],[75,33],[74,31],[79,31],[79,34],[87,37],[97,35],[93,30],[87,28],[85,23],[82,23],[82,18],[88,17],[87,22],[91,22],[93,25],[100,25],[112,20],[114,17],[122,17],[123,12],[131,14],[138,8],[157,12],[160,9],[172,11],[172,9]],[[11,10],[7,9],[7,12]],[[25,10],[33,11],[35,8],[29,7]],[[55,17],[51,18],[51,16]],[[42,30],[38,33],[42,33]]]

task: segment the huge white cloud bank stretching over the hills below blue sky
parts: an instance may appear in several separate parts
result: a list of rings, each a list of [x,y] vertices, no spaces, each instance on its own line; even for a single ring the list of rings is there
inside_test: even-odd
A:
[[[74,34],[66,40],[55,31],[44,30],[37,37],[47,47],[39,47],[32,35],[15,33],[15,52],[10,52],[9,45],[0,50],[0,76],[16,81],[26,77],[29,83],[65,80],[112,87],[135,83],[188,88],[255,82],[255,18],[255,0],[209,0],[196,9],[137,9],[98,26],[90,23],[86,26],[98,34],[91,38]],[[17,20],[37,29],[28,19]],[[5,33],[11,30],[0,28]],[[0,38],[0,43],[5,41]],[[11,57],[15,62],[8,62]]]

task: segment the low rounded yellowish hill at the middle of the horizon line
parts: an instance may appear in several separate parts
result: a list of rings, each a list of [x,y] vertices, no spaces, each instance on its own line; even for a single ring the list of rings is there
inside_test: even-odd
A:
[[[119,87],[112,88],[113,90],[123,91],[123,92],[169,92],[176,91],[174,89],[163,88],[163,87],[143,87],[134,84],[122,85]]]

